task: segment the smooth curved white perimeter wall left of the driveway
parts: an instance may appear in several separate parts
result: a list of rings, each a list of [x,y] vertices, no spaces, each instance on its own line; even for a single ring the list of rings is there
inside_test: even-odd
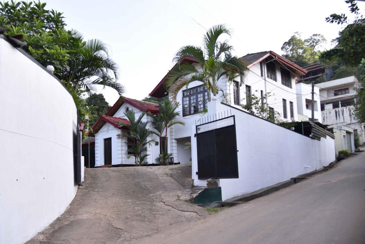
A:
[[[0,87],[0,243],[24,243],[76,194],[77,111],[57,79],[1,37]]]

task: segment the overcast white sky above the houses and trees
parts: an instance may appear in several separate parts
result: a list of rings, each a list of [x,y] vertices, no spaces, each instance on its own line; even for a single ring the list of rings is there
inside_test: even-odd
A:
[[[64,12],[70,29],[110,46],[124,95],[135,99],[146,97],[160,82],[181,46],[201,44],[203,27],[224,23],[232,28],[230,43],[237,56],[264,50],[281,54],[283,42],[295,31],[303,38],[322,34],[330,48],[340,26],[326,23],[325,17],[349,13],[344,0],[43,1]],[[109,104],[118,99],[112,89],[100,91]]]

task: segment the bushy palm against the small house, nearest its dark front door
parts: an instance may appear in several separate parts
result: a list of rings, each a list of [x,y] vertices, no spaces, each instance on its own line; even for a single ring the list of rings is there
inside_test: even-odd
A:
[[[147,128],[149,121],[142,122],[142,118],[145,114],[146,113],[142,113],[138,119],[135,119],[134,111],[128,110],[124,115],[127,117],[129,124],[124,122],[119,123],[120,127],[123,126],[129,129],[127,137],[131,139],[131,142],[128,144],[130,146],[128,152],[131,154],[127,157],[134,157],[137,166],[142,166],[146,163],[145,159],[149,154],[144,153],[147,151],[147,146],[155,142],[155,139],[148,139],[148,137],[152,135],[152,131]],[[121,134],[117,134],[116,136],[118,139],[122,137]]]

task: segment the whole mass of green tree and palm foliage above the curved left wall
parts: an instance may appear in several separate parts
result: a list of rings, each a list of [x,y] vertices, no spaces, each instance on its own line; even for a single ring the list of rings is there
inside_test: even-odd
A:
[[[23,34],[28,43],[23,49],[42,65],[54,66],[54,74],[72,93],[80,120],[85,121],[91,115],[85,92],[95,92],[96,85],[124,92],[117,82],[118,65],[102,41],[84,41],[77,31],[65,29],[62,13],[45,7],[40,1],[0,2],[0,26],[7,28],[6,35]]]

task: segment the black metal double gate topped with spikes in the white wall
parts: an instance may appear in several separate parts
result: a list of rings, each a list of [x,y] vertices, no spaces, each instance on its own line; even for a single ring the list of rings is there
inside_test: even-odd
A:
[[[238,178],[235,117],[196,126],[198,179]]]

